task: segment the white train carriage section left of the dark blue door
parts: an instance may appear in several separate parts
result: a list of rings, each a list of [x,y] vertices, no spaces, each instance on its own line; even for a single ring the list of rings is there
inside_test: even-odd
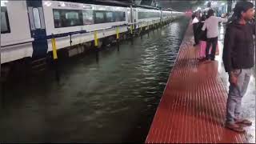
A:
[[[32,57],[26,1],[1,2],[1,64]]]

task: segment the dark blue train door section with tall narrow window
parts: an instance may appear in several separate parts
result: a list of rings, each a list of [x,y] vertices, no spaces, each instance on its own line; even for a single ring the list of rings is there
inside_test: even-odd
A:
[[[27,1],[30,33],[34,38],[32,58],[45,58],[48,50],[42,1]]]

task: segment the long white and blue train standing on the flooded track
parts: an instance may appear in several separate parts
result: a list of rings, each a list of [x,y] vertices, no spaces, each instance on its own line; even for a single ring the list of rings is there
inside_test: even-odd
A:
[[[1,1],[1,65],[21,59],[46,59],[57,51],[79,54],[86,46],[147,30],[184,13],[150,6],[107,6],[85,2],[20,0]],[[74,50],[75,49],[75,50]],[[74,52],[75,51],[75,52]]]

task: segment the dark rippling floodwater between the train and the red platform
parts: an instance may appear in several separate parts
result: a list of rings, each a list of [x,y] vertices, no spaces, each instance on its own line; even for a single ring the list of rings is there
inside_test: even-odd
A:
[[[6,142],[144,142],[188,20],[99,53],[70,58],[54,76],[8,86]]]

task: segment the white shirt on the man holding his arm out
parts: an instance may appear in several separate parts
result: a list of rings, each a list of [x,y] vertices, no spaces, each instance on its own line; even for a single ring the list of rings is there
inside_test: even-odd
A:
[[[227,18],[219,18],[215,16],[210,16],[207,18],[202,26],[202,30],[207,29],[207,38],[218,37],[218,22],[227,22]]]

